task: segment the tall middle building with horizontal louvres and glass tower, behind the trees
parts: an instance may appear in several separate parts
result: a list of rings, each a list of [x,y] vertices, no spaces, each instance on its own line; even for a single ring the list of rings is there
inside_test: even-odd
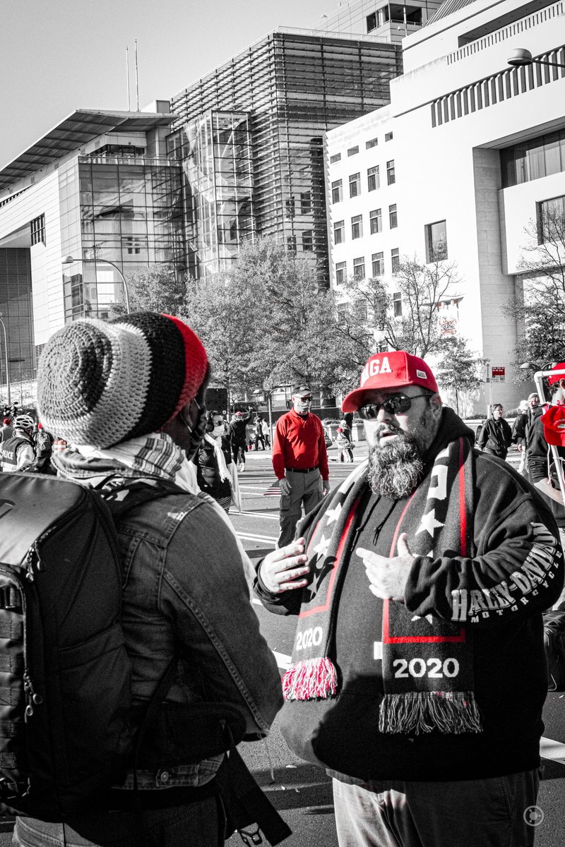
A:
[[[241,240],[254,233],[282,237],[289,249],[326,268],[323,133],[390,102],[390,80],[401,72],[396,44],[280,29],[173,97],[180,120],[169,155],[183,163],[191,198],[191,275],[226,267]],[[227,130],[214,125],[220,116]],[[242,189],[252,184],[249,201],[230,195],[235,186],[224,183],[221,142],[213,140],[214,133],[229,135],[232,119],[241,122],[240,135],[248,134],[242,147],[251,152],[232,182],[237,175]],[[208,151],[205,174],[198,148]]]

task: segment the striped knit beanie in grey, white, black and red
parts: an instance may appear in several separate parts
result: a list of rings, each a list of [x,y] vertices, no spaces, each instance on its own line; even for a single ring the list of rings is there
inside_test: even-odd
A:
[[[201,340],[171,315],[77,320],[43,349],[39,415],[64,440],[104,449],[162,429],[197,396],[207,368]]]

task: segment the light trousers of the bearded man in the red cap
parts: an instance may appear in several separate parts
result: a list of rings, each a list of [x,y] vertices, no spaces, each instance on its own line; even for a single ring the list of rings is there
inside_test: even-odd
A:
[[[363,787],[334,779],[337,838],[340,847],[530,847],[539,786],[537,770]]]

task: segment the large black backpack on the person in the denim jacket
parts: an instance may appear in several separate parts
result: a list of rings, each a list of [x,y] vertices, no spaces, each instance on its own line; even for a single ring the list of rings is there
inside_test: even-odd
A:
[[[0,475],[0,806],[60,821],[123,780],[132,745],[117,534],[100,495]]]

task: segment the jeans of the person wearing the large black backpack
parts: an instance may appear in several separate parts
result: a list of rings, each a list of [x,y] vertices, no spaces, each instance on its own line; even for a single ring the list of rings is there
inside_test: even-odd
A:
[[[142,813],[107,811],[69,823],[16,818],[14,847],[223,847],[224,811],[219,799]]]

